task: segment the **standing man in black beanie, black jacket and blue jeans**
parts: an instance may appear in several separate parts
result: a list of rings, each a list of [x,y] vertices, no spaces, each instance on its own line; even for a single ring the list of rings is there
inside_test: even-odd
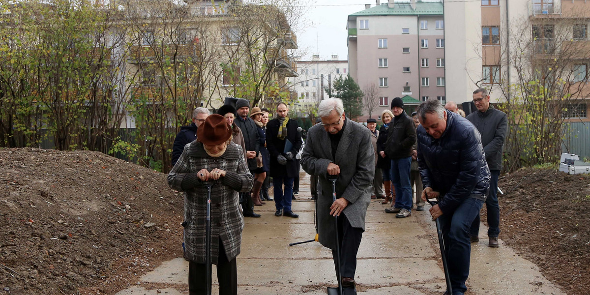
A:
[[[389,123],[385,153],[391,159],[391,183],[395,187],[395,206],[385,209],[397,213],[395,217],[412,216],[412,186],[409,174],[412,165],[412,148],[416,142],[414,120],[404,112],[404,101],[396,97],[391,101],[394,120]]]

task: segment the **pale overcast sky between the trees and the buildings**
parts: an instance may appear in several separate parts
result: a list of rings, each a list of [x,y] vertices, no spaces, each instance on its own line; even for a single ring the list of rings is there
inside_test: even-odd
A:
[[[311,60],[313,54],[323,60],[337,54],[339,60],[348,60],[346,47],[346,20],[349,14],[365,9],[365,4],[375,0],[309,0],[309,12],[304,15],[304,28],[297,33],[297,44],[303,60]]]

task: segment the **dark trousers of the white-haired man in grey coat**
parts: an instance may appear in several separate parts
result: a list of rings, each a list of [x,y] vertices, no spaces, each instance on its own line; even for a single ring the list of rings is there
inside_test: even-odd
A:
[[[359,251],[362,237],[363,229],[352,227],[348,218],[344,214],[340,214],[338,217],[338,239],[340,241],[340,271],[342,277],[355,277],[356,254]],[[337,273],[336,250],[332,250],[332,257],[334,258],[334,266],[336,267]]]

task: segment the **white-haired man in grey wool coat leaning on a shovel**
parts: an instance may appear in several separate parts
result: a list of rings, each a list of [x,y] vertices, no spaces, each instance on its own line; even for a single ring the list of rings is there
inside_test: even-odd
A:
[[[322,123],[307,132],[301,166],[310,175],[319,176],[319,241],[332,249],[335,258],[333,218],[339,217],[337,231],[342,286],[353,287],[356,286],[356,254],[365,231],[366,211],[371,202],[370,186],[375,174],[371,132],[346,117],[340,99],[322,100],[317,113]],[[339,175],[335,202],[332,201],[332,182],[328,181],[327,175]]]

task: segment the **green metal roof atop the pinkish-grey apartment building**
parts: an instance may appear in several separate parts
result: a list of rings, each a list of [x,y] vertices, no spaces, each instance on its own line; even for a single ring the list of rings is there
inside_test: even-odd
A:
[[[394,8],[387,4],[373,6],[369,9],[356,12],[350,17],[363,17],[368,15],[442,15],[442,2],[416,2],[416,9],[412,9],[409,2],[394,3]]]

